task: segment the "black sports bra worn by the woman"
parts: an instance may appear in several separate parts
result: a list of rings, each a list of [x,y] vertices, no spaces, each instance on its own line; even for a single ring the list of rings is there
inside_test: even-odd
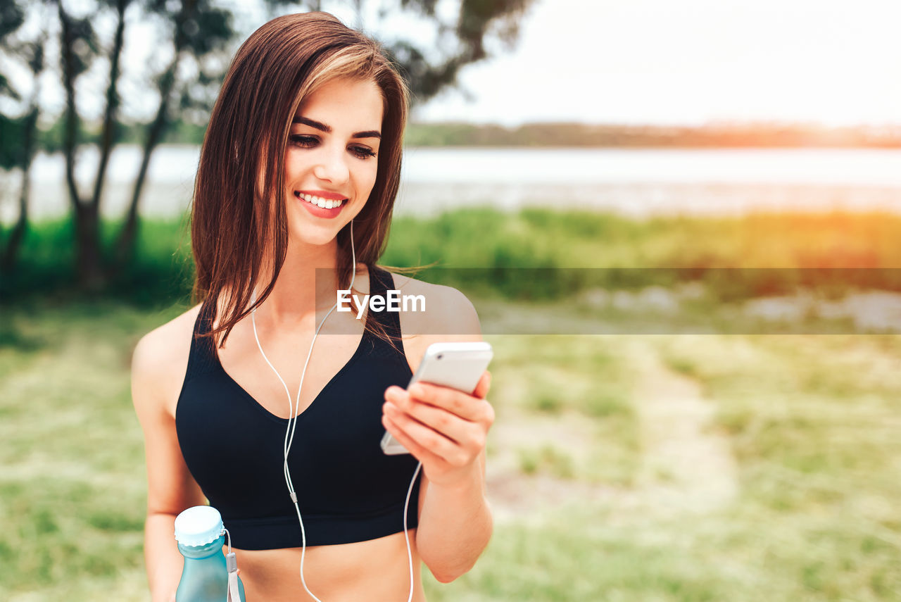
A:
[[[394,288],[391,274],[369,267],[370,294],[385,295],[388,288]],[[210,337],[196,336],[210,331],[213,318],[214,305],[205,302],[177,402],[182,455],[210,506],[222,514],[234,547],[300,547],[282,467],[287,420],[260,406],[225,372]],[[378,320],[401,352],[364,331],[357,351],[297,418],[288,466],[307,545],[361,542],[404,530],[417,462],[409,454],[385,455],[379,442],[385,389],[406,387],[412,374],[398,315],[367,312],[366,320]],[[408,527],[418,523],[421,479],[410,496]]]

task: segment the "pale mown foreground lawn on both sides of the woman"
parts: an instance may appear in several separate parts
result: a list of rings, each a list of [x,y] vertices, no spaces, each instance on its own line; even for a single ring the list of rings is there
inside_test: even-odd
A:
[[[129,362],[180,309],[3,311],[2,597],[145,600]],[[432,602],[901,600],[901,337],[487,339],[495,534]]]

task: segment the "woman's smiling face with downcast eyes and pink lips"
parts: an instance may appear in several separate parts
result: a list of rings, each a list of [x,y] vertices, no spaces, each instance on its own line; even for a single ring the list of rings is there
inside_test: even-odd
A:
[[[289,242],[332,242],[359,214],[376,182],[382,111],[369,80],[335,79],[306,96],[285,150]]]

